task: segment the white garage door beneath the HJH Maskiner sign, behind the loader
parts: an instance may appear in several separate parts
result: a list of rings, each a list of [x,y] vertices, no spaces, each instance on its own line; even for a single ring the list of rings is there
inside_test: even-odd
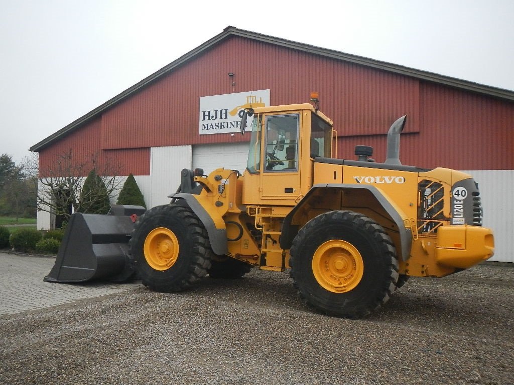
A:
[[[239,170],[246,168],[249,143],[202,144],[193,146],[193,169],[203,168],[208,175],[216,168]]]

